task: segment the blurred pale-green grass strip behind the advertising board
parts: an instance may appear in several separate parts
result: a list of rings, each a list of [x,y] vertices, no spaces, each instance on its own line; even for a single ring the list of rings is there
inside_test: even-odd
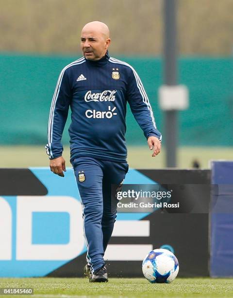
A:
[[[48,167],[49,160],[44,146],[1,146],[0,168]],[[69,148],[65,147],[64,157],[67,167]],[[128,163],[131,168],[165,168],[165,149],[156,157],[151,157],[148,147],[128,147]],[[209,160],[233,160],[231,147],[182,147],[178,150],[178,168],[191,168],[192,160],[198,159],[201,168],[209,168]]]

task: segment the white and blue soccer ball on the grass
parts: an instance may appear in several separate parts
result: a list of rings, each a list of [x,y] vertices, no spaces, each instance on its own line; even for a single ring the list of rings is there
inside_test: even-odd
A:
[[[154,249],[142,262],[142,272],[151,283],[170,283],[179,272],[179,262],[167,249]]]

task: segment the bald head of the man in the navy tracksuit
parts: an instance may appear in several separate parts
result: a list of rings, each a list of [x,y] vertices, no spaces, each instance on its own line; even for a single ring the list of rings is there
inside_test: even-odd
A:
[[[88,60],[99,60],[105,56],[111,39],[108,26],[100,21],[85,24],[81,32],[83,56]]]

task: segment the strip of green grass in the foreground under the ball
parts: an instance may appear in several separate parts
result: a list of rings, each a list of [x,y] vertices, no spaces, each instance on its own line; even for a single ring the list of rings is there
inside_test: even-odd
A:
[[[75,278],[0,279],[0,287],[33,288],[33,297],[36,298],[233,297],[232,279],[209,278],[177,278],[170,284],[150,284],[146,279],[110,279],[108,283],[100,284],[90,284],[88,279]]]

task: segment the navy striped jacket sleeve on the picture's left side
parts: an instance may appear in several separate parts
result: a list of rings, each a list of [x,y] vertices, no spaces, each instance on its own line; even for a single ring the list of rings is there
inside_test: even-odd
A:
[[[71,88],[67,70],[63,69],[59,75],[50,108],[48,144],[45,146],[50,159],[62,156],[63,146],[61,139],[67,121],[70,99]]]

